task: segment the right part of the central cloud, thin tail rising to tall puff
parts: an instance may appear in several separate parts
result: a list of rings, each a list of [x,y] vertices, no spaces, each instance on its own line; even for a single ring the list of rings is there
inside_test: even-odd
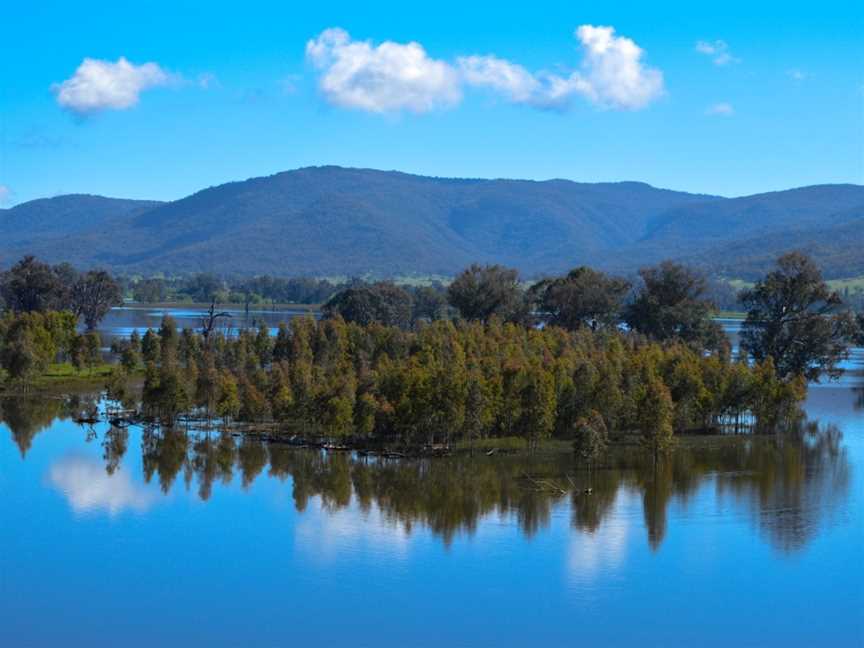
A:
[[[485,86],[509,101],[540,108],[564,108],[581,96],[602,108],[637,110],[663,94],[663,73],[646,66],[644,51],[633,40],[616,36],[613,27],[582,25],[575,32],[584,57],[568,75],[531,73],[494,56],[459,59],[465,82]]]

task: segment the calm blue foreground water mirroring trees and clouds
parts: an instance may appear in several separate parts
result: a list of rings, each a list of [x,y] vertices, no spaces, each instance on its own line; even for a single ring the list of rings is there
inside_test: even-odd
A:
[[[0,644],[864,645],[862,360],[801,434],[593,474],[2,401]]]

